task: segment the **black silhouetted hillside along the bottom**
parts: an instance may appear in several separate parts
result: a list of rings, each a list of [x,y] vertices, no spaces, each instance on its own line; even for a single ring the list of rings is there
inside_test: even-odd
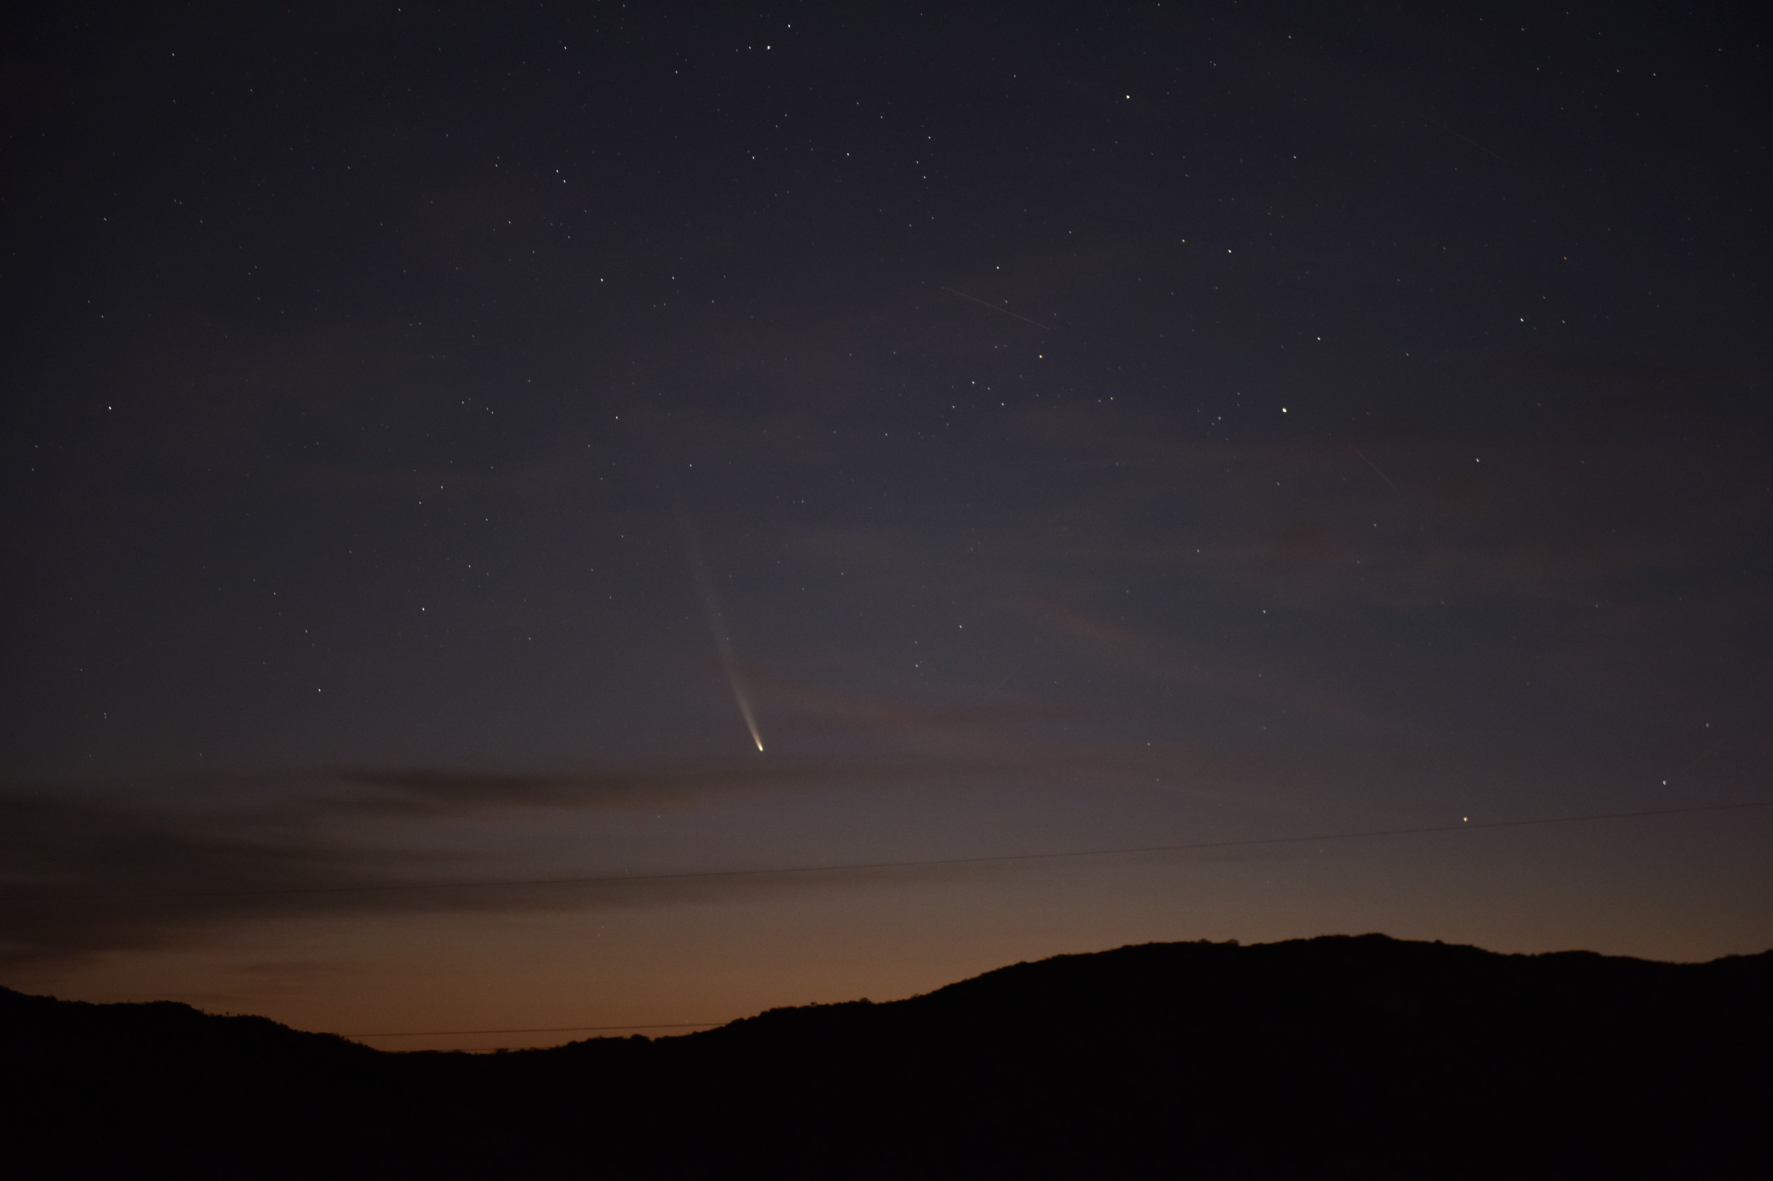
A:
[[[1773,952],[1151,943],[660,1041],[379,1053],[0,989],[14,1177],[1768,1177]]]

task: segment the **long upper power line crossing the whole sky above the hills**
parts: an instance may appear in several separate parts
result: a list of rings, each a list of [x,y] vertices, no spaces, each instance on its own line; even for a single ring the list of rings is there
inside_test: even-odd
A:
[[[1699,803],[1681,809],[1645,809],[1638,812],[1587,812],[1582,816],[1541,816],[1514,821],[1482,821],[1477,825],[1424,825],[1420,828],[1371,828],[1365,832],[1330,832],[1303,837],[1248,837],[1239,841],[1193,841],[1186,844],[1142,844],[1113,849],[1064,849],[1055,853],[995,853],[982,856],[933,856],[904,862],[849,862],[840,865],[775,865],[766,869],[695,869],[663,874],[599,874],[594,878],[523,878],[523,880],[466,880],[466,881],[406,881],[385,885],[339,885],[339,887],[262,887],[245,890],[165,890],[152,894],[25,894],[0,897],[7,903],[80,903],[105,899],[156,899],[156,897],[266,897],[298,894],[410,894],[417,890],[491,890],[516,887],[558,887],[558,885],[622,885],[652,881],[702,881],[711,878],[764,878],[771,874],[842,874],[867,872],[881,869],[938,869],[943,865],[1004,865],[1011,862],[1050,862],[1082,856],[1129,856],[1136,853],[1190,853],[1199,849],[1238,849],[1266,844],[1312,844],[1323,841],[1371,841],[1378,837],[1418,837],[1441,832],[1482,832],[1496,828],[1532,828],[1539,825],[1580,825],[1592,821],[1642,819],[1651,816],[1691,816],[1699,812],[1729,812],[1741,809],[1773,807],[1773,800],[1748,800],[1743,803]]]

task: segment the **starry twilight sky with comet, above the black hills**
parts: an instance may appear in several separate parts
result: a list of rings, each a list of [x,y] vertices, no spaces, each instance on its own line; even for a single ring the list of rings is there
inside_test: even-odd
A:
[[[1768,11],[922,7],[14,25],[0,982],[1773,945]]]

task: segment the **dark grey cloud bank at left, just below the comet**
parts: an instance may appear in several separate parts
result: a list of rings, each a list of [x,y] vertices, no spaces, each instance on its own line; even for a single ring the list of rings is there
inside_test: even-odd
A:
[[[934,786],[1051,775],[1032,752],[734,759],[558,775],[353,768],[312,777],[14,786],[0,791],[0,959],[32,961],[206,938],[227,924],[404,910],[560,906],[558,894],[500,888],[537,878],[621,878],[633,851],[592,841],[571,864],[551,853],[562,823],[672,810],[734,791]],[[578,819],[573,819],[578,817]],[[585,828],[585,825],[592,828]],[[645,855],[642,851],[642,855]],[[637,904],[771,887],[697,880],[734,865],[658,849],[684,878],[576,888],[571,904]],[[700,860],[697,860],[700,856]],[[686,860],[688,858],[688,860]],[[743,860],[743,858],[741,858]],[[546,864],[546,872],[535,865]],[[658,865],[651,867],[658,869]],[[793,888],[814,888],[796,874]],[[475,885],[489,883],[489,885]],[[424,888],[441,887],[441,888]]]

